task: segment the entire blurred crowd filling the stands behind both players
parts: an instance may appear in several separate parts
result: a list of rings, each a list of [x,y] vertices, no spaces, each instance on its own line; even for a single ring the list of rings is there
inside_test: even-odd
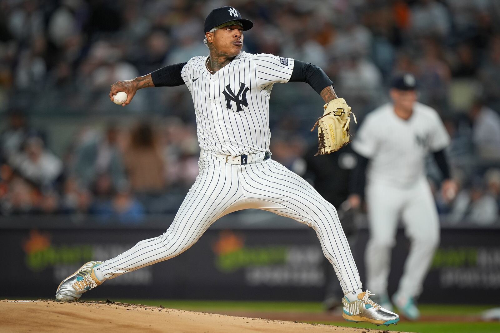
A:
[[[57,127],[36,128],[30,119],[109,115],[113,82],[207,54],[204,17],[226,4],[0,1],[0,214],[92,213],[137,222],[174,212],[197,173],[187,89],[140,91],[123,112],[144,121],[121,125],[112,114],[99,128],[81,126],[61,156],[51,153]],[[498,220],[500,1],[230,4],[254,22],[245,51],[317,64],[360,120],[387,101],[392,75],[414,73],[419,100],[439,112],[452,138],[448,155],[461,186],[452,202],[436,191],[439,212],[454,223]],[[270,104],[273,158],[303,174],[321,100],[293,83],[276,87]],[[438,178],[429,165],[429,180]]]

